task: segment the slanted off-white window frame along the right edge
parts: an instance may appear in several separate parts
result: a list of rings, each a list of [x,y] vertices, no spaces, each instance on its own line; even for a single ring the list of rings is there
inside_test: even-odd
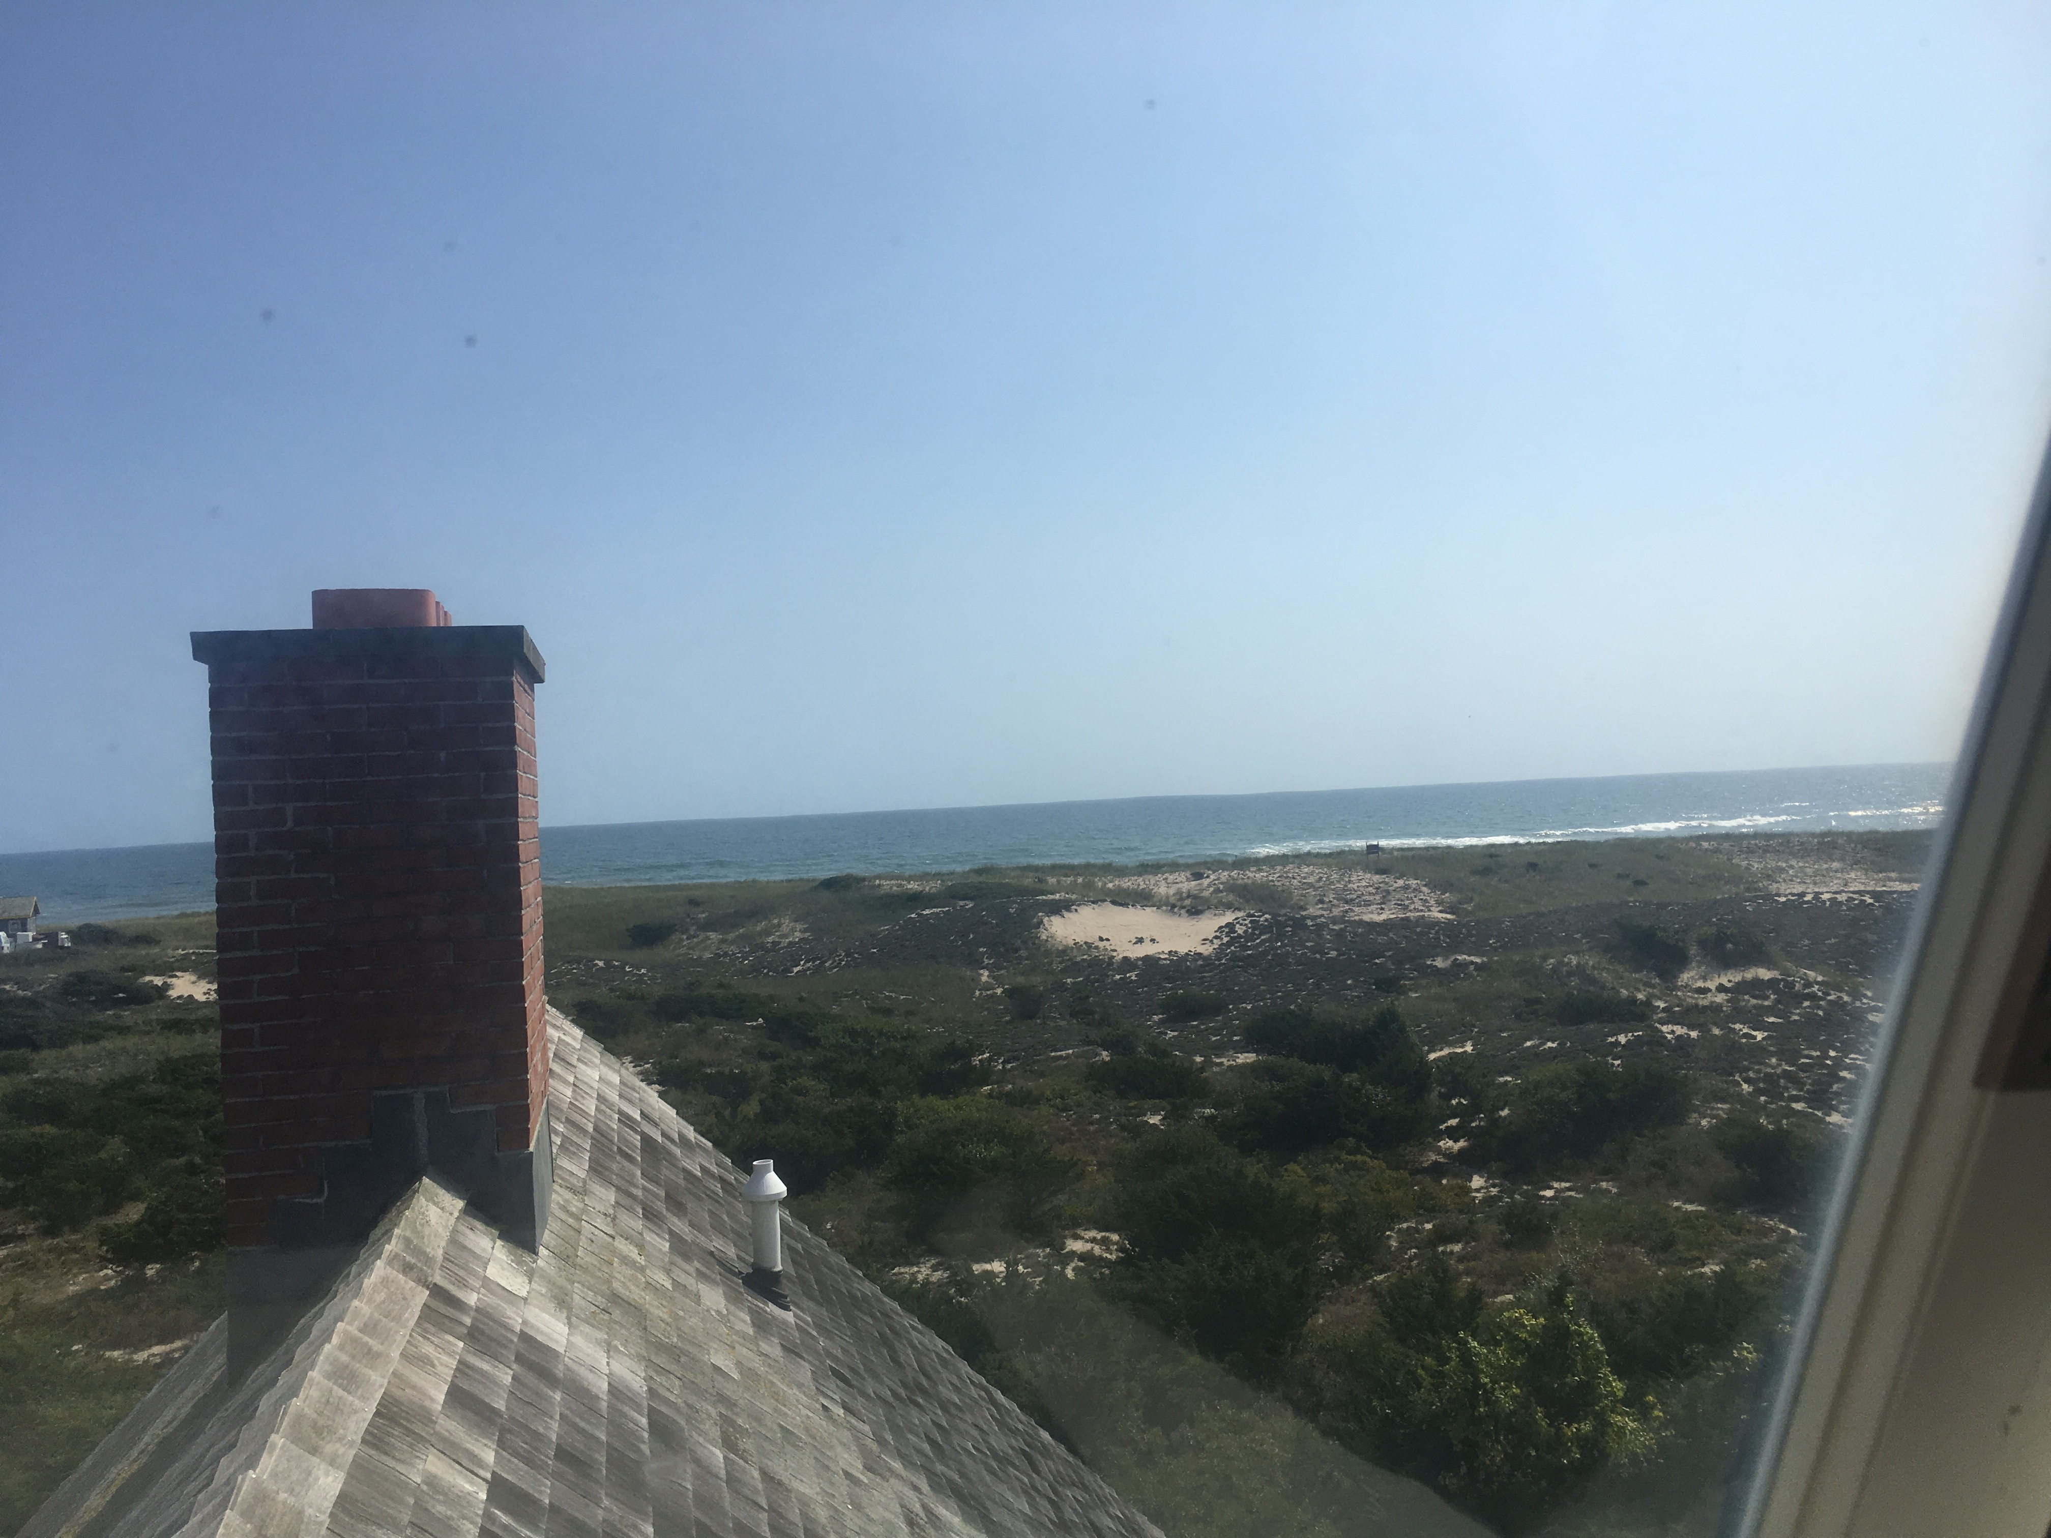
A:
[[[1733,1530],[2051,1528],[2051,453]],[[2041,999],[2037,999],[2043,1003]]]

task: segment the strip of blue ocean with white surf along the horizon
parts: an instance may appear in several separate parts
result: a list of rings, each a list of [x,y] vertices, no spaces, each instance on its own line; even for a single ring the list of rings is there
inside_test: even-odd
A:
[[[1362,843],[1928,828],[1942,816],[1948,781],[1951,765],[1912,763],[544,826],[541,878],[636,886],[1229,859]],[[0,855],[0,892],[41,898],[47,921],[189,913],[213,906],[213,845]]]

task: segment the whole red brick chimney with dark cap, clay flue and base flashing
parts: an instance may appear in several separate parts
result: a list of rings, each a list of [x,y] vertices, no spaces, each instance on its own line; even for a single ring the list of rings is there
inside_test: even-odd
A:
[[[314,593],[207,664],[230,1302],[299,1298],[427,1169],[548,1222],[533,689],[519,625]],[[291,1259],[299,1255],[299,1259]],[[240,1257],[240,1265],[236,1259]]]

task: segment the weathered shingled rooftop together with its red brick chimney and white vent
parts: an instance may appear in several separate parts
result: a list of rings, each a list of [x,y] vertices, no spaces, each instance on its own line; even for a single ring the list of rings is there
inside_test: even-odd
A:
[[[1157,1530],[541,997],[519,625],[205,632],[228,1312],[23,1530]]]

